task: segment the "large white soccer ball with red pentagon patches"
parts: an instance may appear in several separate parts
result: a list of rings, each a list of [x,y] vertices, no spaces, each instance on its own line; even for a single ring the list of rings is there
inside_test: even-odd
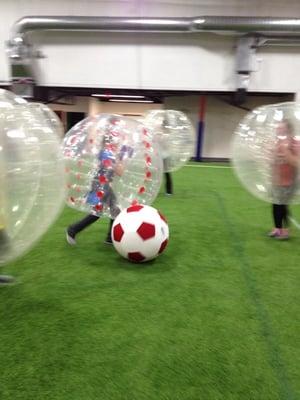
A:
[[[128,260],[149,261],[165,250],[169,227],[155,208],[138,204],[117,216],[112,227],[112,240],[117,252]]]

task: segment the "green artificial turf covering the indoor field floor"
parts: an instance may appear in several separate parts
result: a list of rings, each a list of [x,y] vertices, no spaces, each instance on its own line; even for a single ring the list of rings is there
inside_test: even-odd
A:
[[[107,220],[65,242],[66,209],[3,272],[3,400],[296,400],[300,232],[266,237],[271,207],[230,168],[190,164],[154,206],[170,243],[131,264],[103,243]],[[293,208],[300,220],[300,210]]]

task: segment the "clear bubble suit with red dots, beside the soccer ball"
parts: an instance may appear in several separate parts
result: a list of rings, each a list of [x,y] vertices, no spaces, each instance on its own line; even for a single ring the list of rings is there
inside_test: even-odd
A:
[[[76,124],[64,139],[67,204],[115,218],[132,204],[151,204],[162,179],[158,146],[134,119],[100,114]]]

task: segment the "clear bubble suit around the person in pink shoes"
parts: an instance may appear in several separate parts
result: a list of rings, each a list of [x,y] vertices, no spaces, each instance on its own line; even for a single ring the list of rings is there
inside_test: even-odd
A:
[[[250,193],[270,203],[300,203],[300,104],[254,109],[238,125],[232,151],[235,172]]]

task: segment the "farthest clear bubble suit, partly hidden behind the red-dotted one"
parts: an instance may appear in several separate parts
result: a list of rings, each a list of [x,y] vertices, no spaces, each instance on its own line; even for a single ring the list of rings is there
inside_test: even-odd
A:
[[[152,110],[144,115],[144,124],[159,144],[164,172],[181,168],[194,154],[195,131],[183,112]]]

